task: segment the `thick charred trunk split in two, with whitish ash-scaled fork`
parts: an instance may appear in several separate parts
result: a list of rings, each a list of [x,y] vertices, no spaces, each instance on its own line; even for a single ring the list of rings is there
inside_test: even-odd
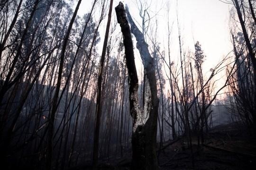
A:
[[[115,8],[118,23],[124,38],[126,65],[128,68],[130,114],[133,118],[132,129],[132,159],[133,169],[157,170],[156,158],[156,131],[157,131],[157,109],[159,99],[157,98],[154,60],[148,51],[143,34],[134,24],[127,8],[127,15],[131,24],[128,25],[126,11],[121,2]],[[138,103],[138,78],[134,61],[133,44],[131,32],[137,40],[137,49],[140,52],[144,64],[145,73],[145,96],[143,110]]]

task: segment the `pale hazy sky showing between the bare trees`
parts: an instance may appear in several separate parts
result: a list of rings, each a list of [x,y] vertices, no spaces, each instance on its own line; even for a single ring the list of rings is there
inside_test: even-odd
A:
[[[78,12],[79,15],[90,10],[91,2],[92,0],[82,0]],[[137,25],[141,24],[142,20],[139,17],[136,0],[123,0],[122,2],[128,5],[130,13],[137,22]],[[164,48],[167,50],[167,6],[169,5],[170,7],[170,23],[173,23],[171,34],[172,60],[175,61],[179,57],[177,10],[183,48],[186,51],[191,50],[194,52],[194,41],[199,41],[201,43],[201,47],[207,56],[203,67],[205,73],[232,50],[232,43],[230,42],[229,35],[230,5],[220,2],[219,0],[178,0],[177,8],[176,0],[146,0],[146,2],[151,4],[149,8],[150,16],[153,17],[156,14],[156,16],[152,18],[151,25],[154,27],[155,19],[157,19],[157,41],[161,44],[161,51],[164,50]],[[118,3],[119,0],[114,0],[112,21],[116,19],[114,7],[116,7]],[[107,19],[105,19],[100,29],[101,37],[104,37],[106,20]],[[101,43],[99,44],[100,51],[102,42],[103,39],[101,39]],[[138,62],[140,60],[138,51],[135,51],[135,55],[136,61]],[[137,67],[137,69],[139,68]]]

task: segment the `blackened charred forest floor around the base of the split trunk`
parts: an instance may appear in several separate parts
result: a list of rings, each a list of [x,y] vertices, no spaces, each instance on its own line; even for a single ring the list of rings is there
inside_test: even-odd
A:
[[[194,160],[194,170],[256,170],[256,138],[246,131],[238,124],[213,127],[200,148],[192,138],[193,154],[184,138],[165,142],[165,149],[158,153],[159,169],[193,170]],[[130,162],[128,152],[119,159],[102,160],[99,170],[130,170]],[[81,165],[72,170],[90,168]]]

